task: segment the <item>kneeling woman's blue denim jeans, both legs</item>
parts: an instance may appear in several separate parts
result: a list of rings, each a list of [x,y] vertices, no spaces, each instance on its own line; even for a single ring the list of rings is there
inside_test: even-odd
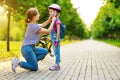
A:
[[[20,66],[31,71],[38,70],[38,61],[46,56],[48,50],[45,48],[35,47],[31,45],[22,46],[21,52],[25,61],[21,61]]]

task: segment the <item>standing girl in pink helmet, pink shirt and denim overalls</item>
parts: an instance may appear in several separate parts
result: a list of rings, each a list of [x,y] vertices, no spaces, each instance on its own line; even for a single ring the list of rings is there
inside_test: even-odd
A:
[[[54,50],[56,60],[55,60],[55,64],[52,65],[49,68],[49,70],[54,71],[54,70],[60,70],[59,63],[60,63],[60,24],[61,24],[61,21],[58,17],[60,15],[61,8],[57,4],[52,4],[48,8],[49,8],[49,14],[53,16],[54,15],[53,13],[55,12],[56,17],[57,17],[54,23],[53,30],[51,32],[51,40],[52,40],[53,50]]]

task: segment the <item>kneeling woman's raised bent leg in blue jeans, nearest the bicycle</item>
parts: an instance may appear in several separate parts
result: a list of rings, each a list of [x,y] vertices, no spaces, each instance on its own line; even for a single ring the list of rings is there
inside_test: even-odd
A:
[[[41,47],[34,48],[34,52],[35,52],[37,61],[44,59],[44,57],[48,54],[48,50]]]

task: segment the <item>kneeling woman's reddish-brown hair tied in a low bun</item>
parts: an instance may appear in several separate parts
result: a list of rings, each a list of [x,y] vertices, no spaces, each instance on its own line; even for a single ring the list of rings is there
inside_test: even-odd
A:
[[[36,16],[38,14],[38,10],[36,8],[30,8],[26,12],[27,18],[25,19],[26,23],[29,23],[32,19],[33,16]]]

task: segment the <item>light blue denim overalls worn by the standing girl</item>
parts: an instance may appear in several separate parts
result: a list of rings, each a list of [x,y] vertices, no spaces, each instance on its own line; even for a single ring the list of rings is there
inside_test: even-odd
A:
[[[56,32],[54,30],[52,30],[51,32],[51,40],[52,40],[52,45],[53,45],[53,51],[54,51],[54,54],[55,54],[55,63],[56,64],[59,64],[60,63],[60,37],[58,38],[58,46],[55,46],[54,43],[56,41]]]

